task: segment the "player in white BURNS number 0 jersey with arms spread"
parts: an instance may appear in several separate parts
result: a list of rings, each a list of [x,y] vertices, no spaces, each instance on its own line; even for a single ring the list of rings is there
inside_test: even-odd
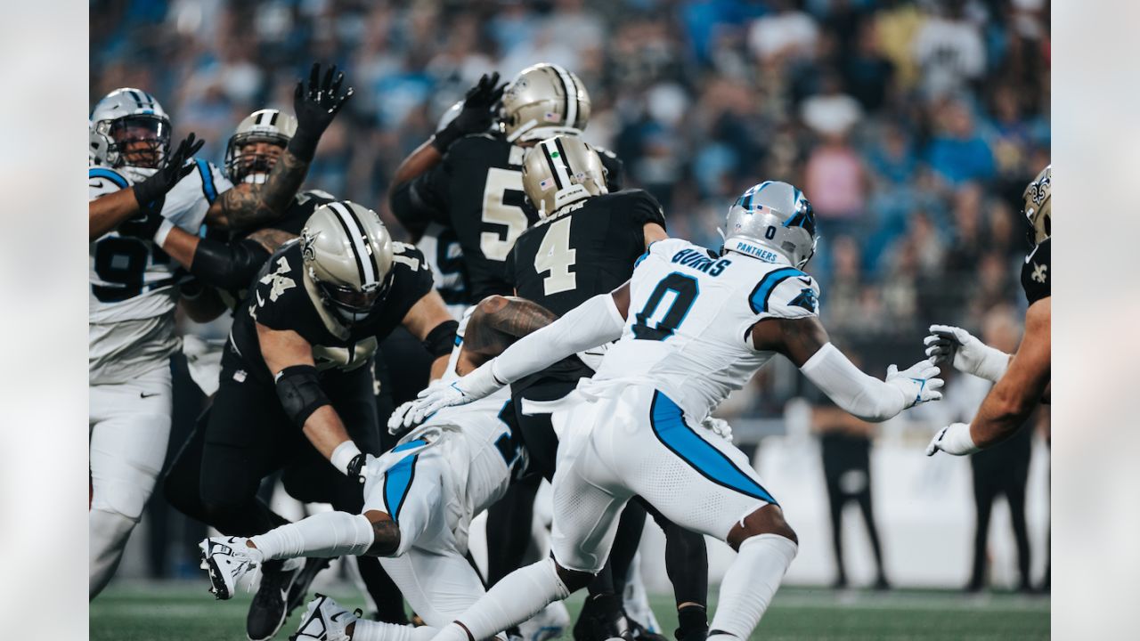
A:
[[[654,243],[629,283],[521,339],[450,386],[425,390],[415,423],[557,359],[609,341],[563,425],[554,476],[553,559],[515,570],[435,636],[484,639],[583,587],[610,551],[616,516],[641,495],[683,527],[739,552],[720,584],[709,639],[748,639],[797,552],[795,532],[748,459],[701,421],[775,354],[847,412],[889,419],[942,397],[921,360],[869,376],[828,339],[819,286],[801,271],[815,249],[803,193],[767,181],[728,210],[720,253],[679,238]]]

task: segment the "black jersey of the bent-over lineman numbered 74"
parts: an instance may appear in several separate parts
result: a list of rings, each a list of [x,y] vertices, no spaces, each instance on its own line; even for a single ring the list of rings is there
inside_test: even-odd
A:
[[[272,381],[261,355],[255,323],[272,330],[292,330],[312,344],[317,370],[349,371],[370,362],[377,342],[404,320],[420,299],[431,292],[432,277],[420,250],[393,243],[392,284],[373,313],[345,325],[325,308],[311,282],[303,277],[301,245],[288,242],[275,252],[258,274],[254,286],[234,314],[230,342],[247,365],[250,375]]]

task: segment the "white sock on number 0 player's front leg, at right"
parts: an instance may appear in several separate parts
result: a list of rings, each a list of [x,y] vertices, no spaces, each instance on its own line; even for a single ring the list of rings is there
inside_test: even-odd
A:
[[[748,639],[760,622],[764,610],[780,587],[798,546],[779,534],[760,534],[740,544],[740,554],[720,582],[720,599],[716,606],[709,641],[723,635]]]

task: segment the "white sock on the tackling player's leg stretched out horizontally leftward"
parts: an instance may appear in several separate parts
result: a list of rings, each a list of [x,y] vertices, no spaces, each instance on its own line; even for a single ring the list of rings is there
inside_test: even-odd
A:
[[[320,512],[295,524],[251,536],[261,560],[360,555],[372,546],[372,522],[364,514]],[[253,555],[256,552],[250,551]]]

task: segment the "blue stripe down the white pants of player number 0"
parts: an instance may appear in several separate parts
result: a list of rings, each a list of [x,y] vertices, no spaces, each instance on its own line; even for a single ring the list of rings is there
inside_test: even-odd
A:
[[[658,440],[700,472],[702,477],[747,496],[779,505],[768,490],[738,468],[723,452],[685,424],[681,407],[659,391],[653,392],[650,424],[653,427],[653,433],[657,435]]]

